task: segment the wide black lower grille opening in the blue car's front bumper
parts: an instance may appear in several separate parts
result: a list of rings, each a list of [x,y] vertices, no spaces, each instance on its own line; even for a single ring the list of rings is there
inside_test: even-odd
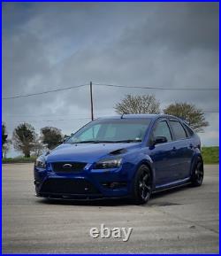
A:
[[[99,194],[95,186],[83,179],[50,178],[42,184],[41,193],[52,194]]]

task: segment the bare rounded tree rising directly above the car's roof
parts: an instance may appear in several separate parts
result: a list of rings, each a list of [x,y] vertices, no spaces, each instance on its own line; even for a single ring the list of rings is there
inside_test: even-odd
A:
[[[159,113],[160,104],[153,95],[126,95],[114,109],[119,114],[123,113]]]

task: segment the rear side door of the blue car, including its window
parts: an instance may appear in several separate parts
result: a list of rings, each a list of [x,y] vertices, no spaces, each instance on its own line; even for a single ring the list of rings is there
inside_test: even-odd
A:
[[[176,180],[185,179],[190,175],[194,145],[179,120],[170,119],[170,127],[173,134],[173,158],[175,158],[173,175]]]

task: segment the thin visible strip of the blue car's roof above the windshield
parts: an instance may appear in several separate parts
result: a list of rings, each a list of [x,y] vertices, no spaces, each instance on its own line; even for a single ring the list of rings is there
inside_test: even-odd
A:
[[[156,120],[158,118],[172,118],[172,119],[177,119],[180,120],[178,117],[168,115],[168,114],[154,114],[154,113],[136,113],[136,114],[122,114],[122,115],[115,115],[115,116],[104,116],[98,118],[98,120],[103,120],[103,119],[151,119],[151,120]]]

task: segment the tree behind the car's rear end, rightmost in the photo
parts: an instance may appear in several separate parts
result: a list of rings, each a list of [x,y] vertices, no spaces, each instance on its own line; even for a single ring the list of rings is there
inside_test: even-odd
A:
[[[187,120],[189,126],[196,132],[202,132],[203,128],[209,126],[209,122],[205,120],[204,112],[192,104],[171,104],[164,109],[164,113]]]

